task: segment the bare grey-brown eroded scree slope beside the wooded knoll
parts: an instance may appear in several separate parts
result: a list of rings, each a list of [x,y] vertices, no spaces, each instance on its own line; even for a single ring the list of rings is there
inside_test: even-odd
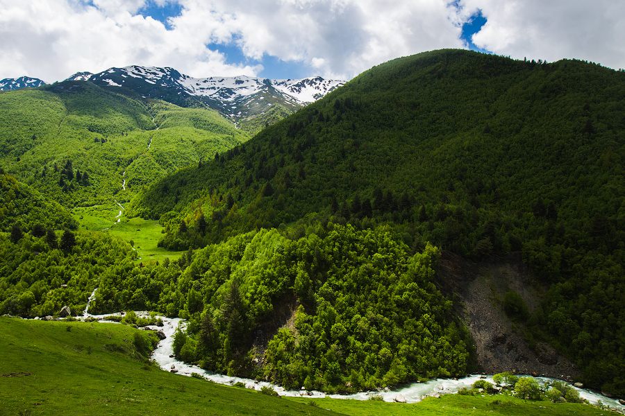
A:
[[[540,307],[540,289],[519,252],[476,263],[442,251],[436,270],[443,291],[456,295],[457,312],[475,343],[478,370],[487,374],[515,371],[559,379],[578,379],[578,368],[547,343],[530,347],[524,328],[503,311],[506,291],[519,294],[529,313]]]

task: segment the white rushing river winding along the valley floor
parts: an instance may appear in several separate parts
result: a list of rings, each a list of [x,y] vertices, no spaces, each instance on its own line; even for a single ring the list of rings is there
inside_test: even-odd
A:
[[[94,291],[95,293],[95,291]],[[93,297],[93,294],[92,294]],[[92,299],[90,297],[90,300]],[[103,320],[106,316],[111,315],[122,315],[122,313],[107,313],[105,315],[91,315],[88,313],[89,303],[85,309],[85,313],[81,320],[86,320],[88,318],[97,319],[101,322],[113,322]],[[136,312],[139,317],[149,318],[149,313],[144,311]],[[253,390],[260,390],[263,386],[273,388],[276,392],[278,392],[281,396],[290,396],[290,397],[331,397],[333,399],[356,399],[356,400],[367,400],[372,396],[381,396],[384,401],[394,401],[398,398],[399,395],[403,396],[406,399],[406,403],[417,403],[422,401],[425,397],[434,396],[444,394],[456,393],[461,388],[471,388],[472,384],[478,379],[483,378],[484,376],[479,374],[472,374],[462,379],[431,379],[426,383],[412,383],[409,385],[404,385],[403,387],[395,388],[393,390],[385,389],[381,391],[372,391],[372,392],[359,392],[354,395],[326,395],[324,392],[319,391],[306,391],[306,390],[285,390],[279,385],[272,385],[271,383],[267,383],[265,381],[256,381],[251,379],[242,379],[240,377],[226,376],[224,374],[217,374],[213,372],[207,372],[206,370],[202,370],[200,367],[196,365],[189,365],[183,363],[182,361],[176,360],[174,358],[174,333],[176,332],[176,328],[181,327],[184,329],[186,326],[185,320],[181,318],[165,318],[163,316],[158,316],[163,320],[163,327],[157,327],[156,325],[150,325],[147,327],[148,329],[154,331],[163,331],[165,333],[164,340],[160,340],[156,349],[153,351],[151,359],[156,361],[158,365],[165,371],[176,372],[176,374],[183,376],[191,376],[191,374],[199,374],[203,376],[205,379],[210,381],[214,381],[219,384],[233,385],[234,383],[243,383],[247,388]],[[492,375],[485,376],[485,380],[493,383]],[[549,377],[535,377],[535,379],[539,383],[545,383],[547,381],[554,381],[555,379],[551,379]],[[596,392],[594,390],[585,389],[585,388],[575,388],[578,391],[580,397],[590,402],[595,406],[599,404],[603,404],[604,406],[609,406],[610,410],[617,410],[620,413],[625,414],[625,406],[619,404],[617,399],[610,399],[601,395],[600,392]]]

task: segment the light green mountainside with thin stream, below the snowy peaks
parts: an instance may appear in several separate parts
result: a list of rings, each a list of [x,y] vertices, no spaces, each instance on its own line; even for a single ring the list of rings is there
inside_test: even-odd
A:
[[[3,92],[0,110],[0,163],[67,207],[124,202],[249,138],[217,112],[84,81]]]

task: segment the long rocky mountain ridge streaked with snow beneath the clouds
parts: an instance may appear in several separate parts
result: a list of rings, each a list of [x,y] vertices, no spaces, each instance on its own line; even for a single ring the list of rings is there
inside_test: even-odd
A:
[[[177,105],[203,103],[235,123],[282,118],[344,84],[321,77],[270,80],[249,76],[191,78],[173,68],[110,68],[101,73],[76,73],[67,80],[89,80],[98,85],[124,87],[146,98]]]

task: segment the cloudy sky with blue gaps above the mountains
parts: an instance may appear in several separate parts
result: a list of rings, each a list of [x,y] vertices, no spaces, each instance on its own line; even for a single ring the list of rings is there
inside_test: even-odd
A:
[[[0,0],[0,79],[136,64],[349,80],[445,48],[620,69],[624,39],[623,0]]]

